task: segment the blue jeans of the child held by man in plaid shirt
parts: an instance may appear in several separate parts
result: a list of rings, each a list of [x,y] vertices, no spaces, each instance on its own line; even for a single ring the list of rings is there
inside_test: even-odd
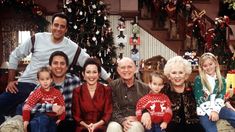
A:
[[[56,127],[56,120],[43,113],[35,114],[30,121],[30,132],[56,132]]]

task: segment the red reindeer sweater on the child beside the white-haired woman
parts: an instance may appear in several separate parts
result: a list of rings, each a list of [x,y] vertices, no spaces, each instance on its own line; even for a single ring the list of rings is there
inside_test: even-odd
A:
[[[162,93],[149,93],[142,97],[136,105],[136,116],[140,121],[143,110],[151,115],[152,123],[169,123],[172,118],[170,99]]]

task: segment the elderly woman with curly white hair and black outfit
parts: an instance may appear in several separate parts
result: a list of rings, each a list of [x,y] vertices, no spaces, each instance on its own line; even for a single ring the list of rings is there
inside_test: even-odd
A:
[[[186,83],[191,72],[191,64],[181,56],[169,59],[164,67],[164,74],[169,79],[169,84],[162,89],[162,92],[170,98],[173,112],[167,132],[204,131],[196,114],[192,88]]]

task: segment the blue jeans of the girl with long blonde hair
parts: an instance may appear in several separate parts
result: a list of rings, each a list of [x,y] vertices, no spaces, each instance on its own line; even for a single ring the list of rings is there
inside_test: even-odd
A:
[[[206,132],[218,132],[216,122],[209,120],[207,115],[199,116],[199,119]],[[235,111],[223,107],[220,110],[219,119],[227,120],[235,128]]]

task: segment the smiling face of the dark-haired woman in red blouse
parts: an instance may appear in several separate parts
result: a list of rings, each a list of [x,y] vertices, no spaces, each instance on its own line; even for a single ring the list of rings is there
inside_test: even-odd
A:
[[[84,80],[90,86],[96,85],[100,76],[100,73],[98,72],[98,68],[95,64],[87,65],[85,68],[85,71],[82,74],[83,74]]]

